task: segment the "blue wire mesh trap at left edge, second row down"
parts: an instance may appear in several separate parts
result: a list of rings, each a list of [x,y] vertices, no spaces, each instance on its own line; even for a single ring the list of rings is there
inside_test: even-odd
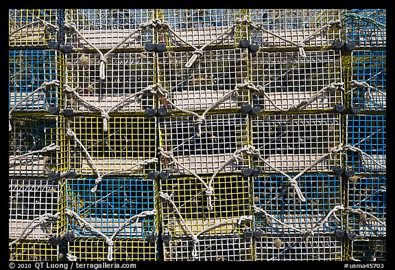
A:
[[[64,54],[49,49],[10,50],[8,58],[8,109],[15,107],[14,110],[43,111],[51,104],[61,104],[60,86],[64,82]],[[58,80],[60,86],[48,85],[37,90],[43,83],[53,80]]]

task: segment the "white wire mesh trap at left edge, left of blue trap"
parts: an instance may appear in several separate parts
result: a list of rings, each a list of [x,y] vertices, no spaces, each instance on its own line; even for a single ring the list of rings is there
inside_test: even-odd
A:
[[[65,229],[64,185],[47,179],[10,178],[8,180],[9,238],[49,239]],[[41,222],[38,217],[56,215]]]

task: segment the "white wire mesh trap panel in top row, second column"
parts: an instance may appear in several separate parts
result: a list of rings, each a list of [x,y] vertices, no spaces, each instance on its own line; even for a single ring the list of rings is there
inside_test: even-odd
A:
[[[67,9],[66,21],[75,23],[77,30],[98,49],[111,49],[118,45],[130,32],[154,19],[152,9]],[[120,49],[141,48],[154,41],[154,31],[147,27],[136,32]],[[66,43],[73,47],[93,49],[74,32],[66,32]]]

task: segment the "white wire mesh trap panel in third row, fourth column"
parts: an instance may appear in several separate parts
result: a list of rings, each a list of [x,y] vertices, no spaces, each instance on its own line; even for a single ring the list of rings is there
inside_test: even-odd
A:
[[[340,118],[331,113],[259,115],[252,119],[252,145],[272,166],[284,172],[300,172],[329,152],[340,141]],[[253,165],[275,172],[252,157]],[[325,172],[340,166],[340,155],[313,166],[308,172]]]

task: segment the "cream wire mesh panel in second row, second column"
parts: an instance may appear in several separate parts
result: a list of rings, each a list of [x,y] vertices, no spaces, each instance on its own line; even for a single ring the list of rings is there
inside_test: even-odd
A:
[[[97,111],[86,102],[106,111],[113,107],[112,111],[143,111],[147,106],[154,106],[152,93],[136,94],[154,84],[152,55],[109,54],[106,80],[100,80],[99,59],[99,54],[67,54],[67,85],[81,97],[67,93],[67,106],[75,111]]]

